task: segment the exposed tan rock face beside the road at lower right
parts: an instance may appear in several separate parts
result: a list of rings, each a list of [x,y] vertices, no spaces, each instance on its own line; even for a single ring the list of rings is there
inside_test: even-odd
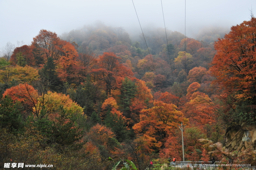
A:
[[[226,148],[229,151],[255,150],[256,125],[242,123],[241,129],[231,129],[226,133]]]

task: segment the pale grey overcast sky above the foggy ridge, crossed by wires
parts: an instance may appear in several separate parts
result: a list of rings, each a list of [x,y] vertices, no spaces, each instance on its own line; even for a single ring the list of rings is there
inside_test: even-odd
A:
[[[161,0],[133,0],[142,29],[164,28]],[[162,0],[166,27],[185,33],[185,0]],[[186,0],[186,36],[210,26],[229,28],[249,20],[256,0]],[[29,45],[40,29],[58,35],[93,24],[139,33],[132,0],[0,0],[0,48],[10,41]],[[255,13],[254,12],[254,13]],[[256,15],[256,14],[255,14]]]

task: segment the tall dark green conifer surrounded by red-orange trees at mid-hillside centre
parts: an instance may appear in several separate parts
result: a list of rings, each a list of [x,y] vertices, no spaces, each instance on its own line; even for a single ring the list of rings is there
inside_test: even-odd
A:
[[[122,111],[126,113],[126,117],[130,118],[130,105],[131,105],[131,99],[135,97],[137,90],[135,82],[133,82],[128,77],[125,77],[122,82],[121,87],[121,95],[120,97],[120,106],[122,108]]]

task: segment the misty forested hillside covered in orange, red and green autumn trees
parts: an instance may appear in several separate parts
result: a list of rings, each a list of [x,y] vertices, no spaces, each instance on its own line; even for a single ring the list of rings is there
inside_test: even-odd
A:
[[[226,130],[256,122],[255,31],[254,17],[218,40],[158,28],[145,34],[147,49],[122,27],[41,29],[0,58],[0,168],[10,159],[95,170],[111,169],[108,157],[141,170],[182,161],[181,122],[185,159],[209,161],[216,148],[198,139],[225,145]]]

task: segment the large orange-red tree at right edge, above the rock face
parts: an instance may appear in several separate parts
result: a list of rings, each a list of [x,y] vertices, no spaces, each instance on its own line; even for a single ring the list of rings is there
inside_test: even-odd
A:
[[[256,92],[256,18],[232,26],[229,34],[218,39],[210,71],[214,83],[238,98],[255,97]]]

